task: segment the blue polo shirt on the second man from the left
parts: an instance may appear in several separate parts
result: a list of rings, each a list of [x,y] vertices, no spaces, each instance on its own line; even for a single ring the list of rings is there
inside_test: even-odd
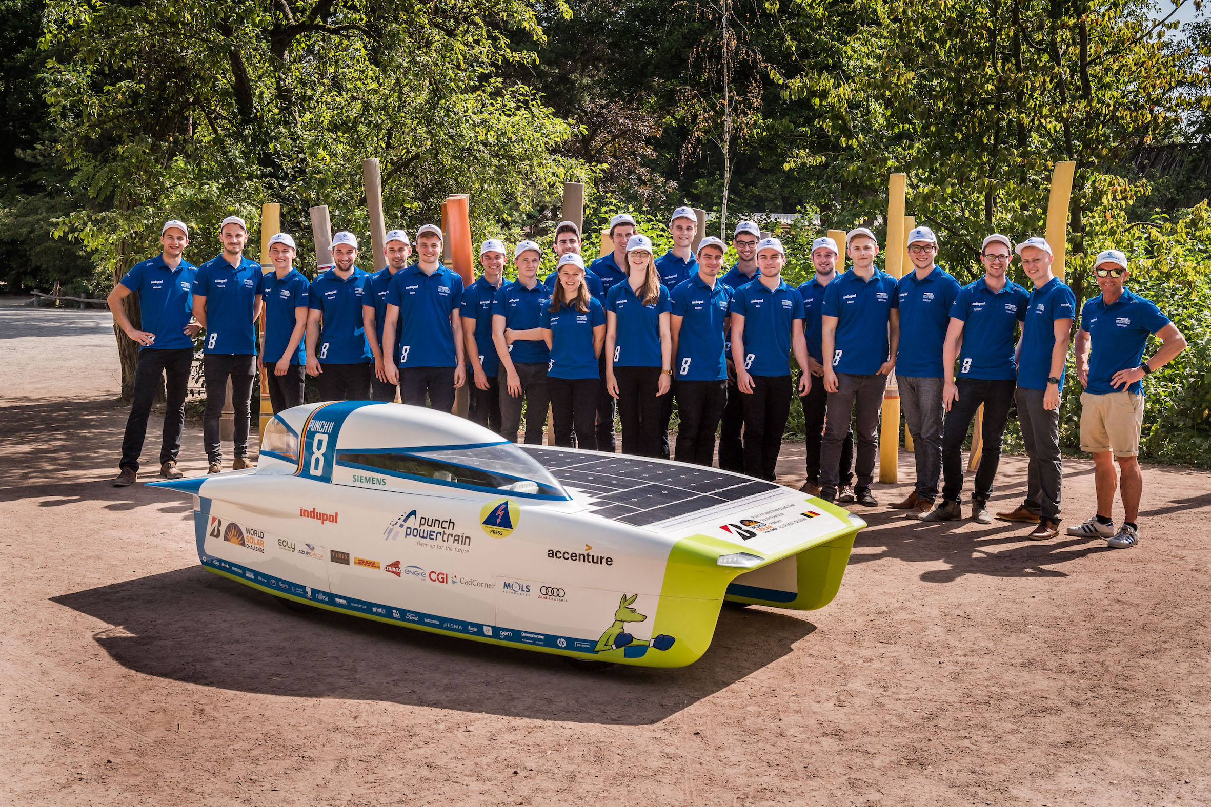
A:
[[[247,258],[239,266],[223,255],[197,267],[194,294],[206,298],[203,352],[246,356],[257,352],[257,328],[252,310],[260,293],[260,264]]]

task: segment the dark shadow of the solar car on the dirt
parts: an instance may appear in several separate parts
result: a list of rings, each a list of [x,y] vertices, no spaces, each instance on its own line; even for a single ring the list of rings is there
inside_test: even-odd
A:
[[[331,611],[298,615],[200,566],[51,598],[107,627],[94,640],[127,669],[239,692],[384,701],[536,720],[659,722],[777,659],[815,626],[727,606],[682,669],[572,668],[562,658]]]

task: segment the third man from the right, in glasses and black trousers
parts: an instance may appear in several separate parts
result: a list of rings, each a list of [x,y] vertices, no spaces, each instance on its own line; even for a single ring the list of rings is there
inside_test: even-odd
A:
[[[959,289],[951,306],[951,324],[942,347],[942,403],[946,427],[942,434],[942,503],[923,521],[963,518],[963,442],[976,410],[983,405],[983,449],[971,494],[971,518],[992,524],[988,497],[1000,465],[1000,444],[1014,400],[1017,367],[1014,359],[1014,330],[1026,317],[1029,295],[1006,277],[1014,259],[1014,244],[994,234],[983,240],[980,261],[985,276]],[[962,351],[960,351],[962,347]],[[902,354],[902,352],[901,352]],[[954,371],[958,357],[959,370]]]

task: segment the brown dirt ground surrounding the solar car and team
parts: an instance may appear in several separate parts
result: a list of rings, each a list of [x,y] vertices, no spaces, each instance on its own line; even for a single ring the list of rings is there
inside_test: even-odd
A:
[[[585,674],[294,615],[202,571],[188,501],[108,484],[109,315],[18,302],[0,300],[2,805],[1211,803],[1206,473],[1146,468],[1123,552],[862,509],[826,609],[724,609],[689,668]],[[182,459],[205,471],[199,428]],[[802,446],[780,471],[802,482]],[[1092,465],[1064,477],[1080,521]],[[1008,457],[993,507],[1023,489]]]

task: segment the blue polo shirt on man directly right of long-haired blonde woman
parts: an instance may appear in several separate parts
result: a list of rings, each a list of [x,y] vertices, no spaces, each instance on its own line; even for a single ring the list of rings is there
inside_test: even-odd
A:
[[[735,290],[719,278],[714,288],[694,272],[668,295],[672,315],[682,318],[673,357],[678,381],[723,381],[728,377],[727,319]]]

